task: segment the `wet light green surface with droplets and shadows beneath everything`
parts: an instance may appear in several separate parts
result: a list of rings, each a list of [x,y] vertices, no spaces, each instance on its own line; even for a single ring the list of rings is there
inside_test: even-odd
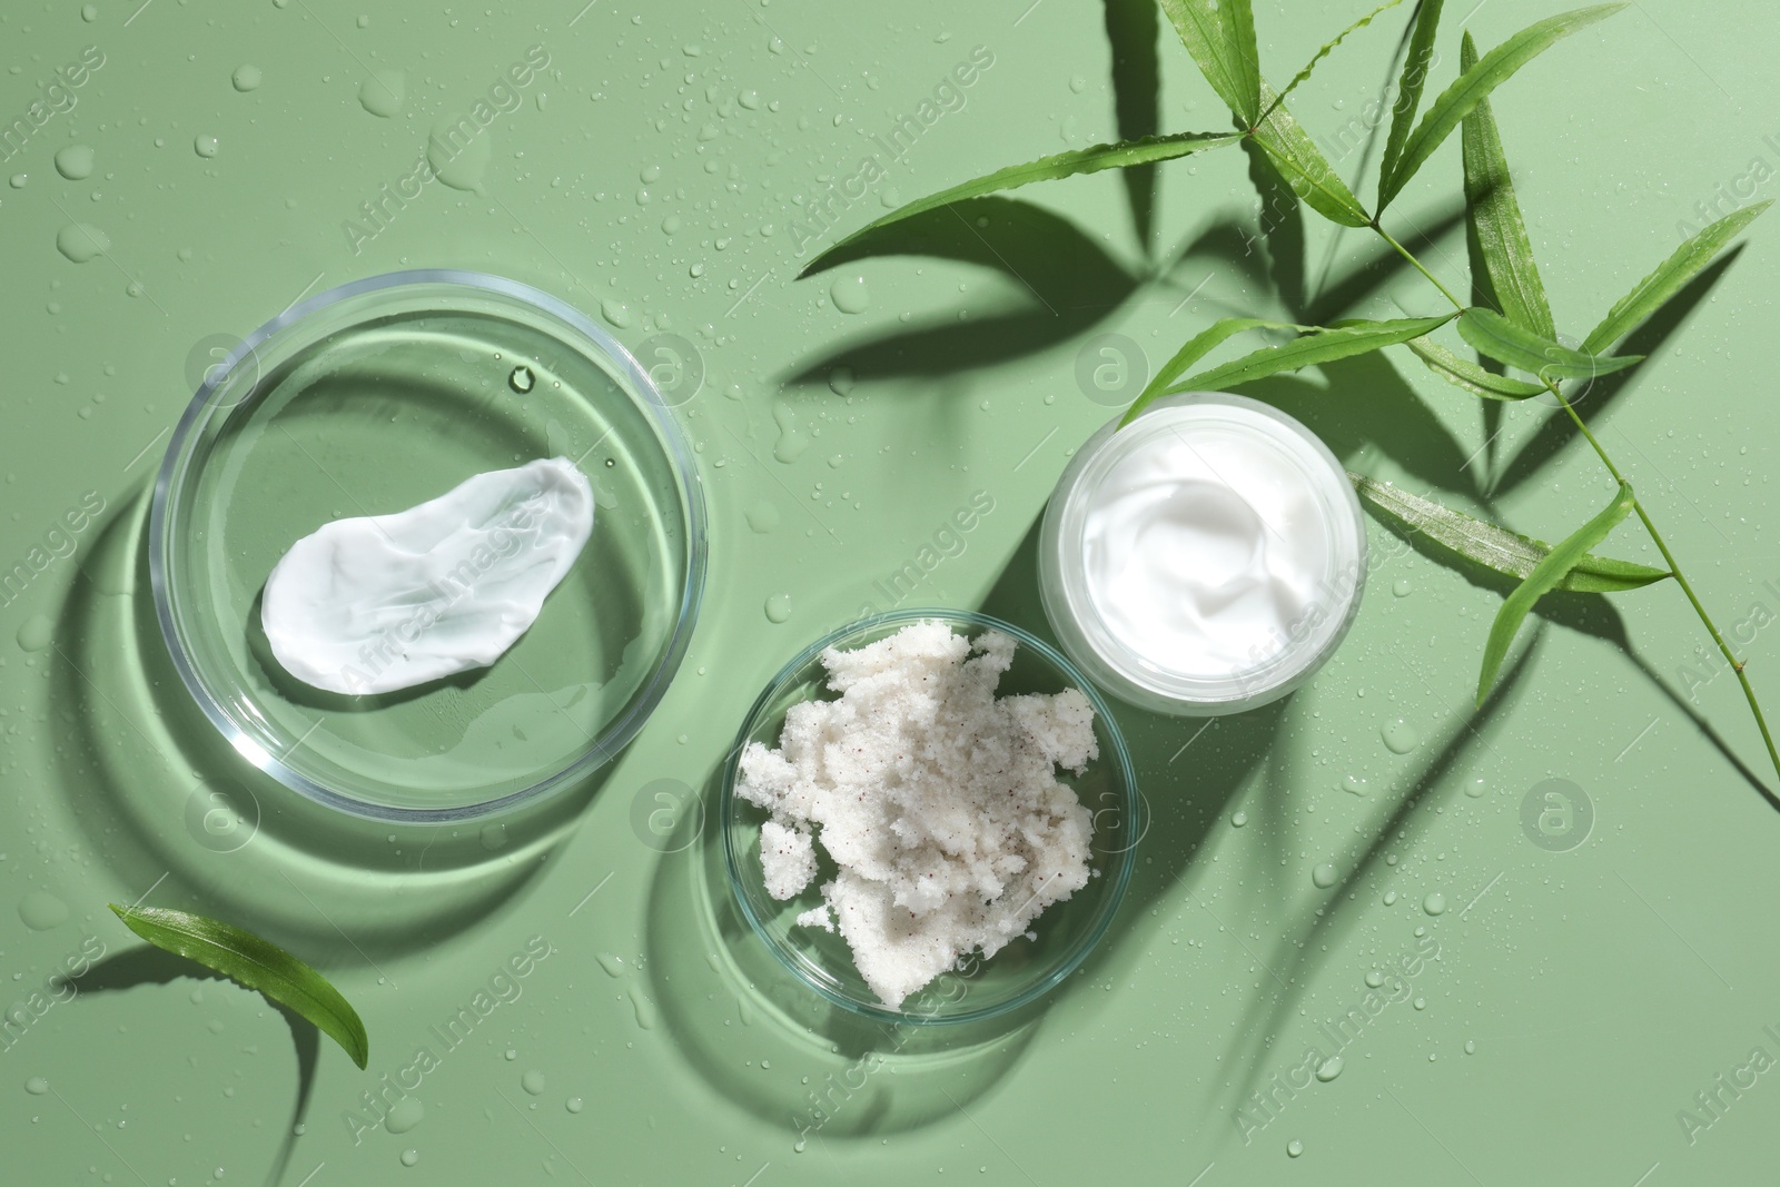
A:
[[[1468,7],[1449,5],[1433,87],[1456,71]],[[1105,11],[577,9],[5,7],[0,121],[25,116],[82,48],[105,64],[0,166],[23,174],[0,187],[0,566],[27,561],[87,491],[105,511],[0,607],[0,888],[18,904],[0,920],[0,986],[30,1011],[52,973],[85,963],[84,945],[107,952],[73,1000],[28,1014],[0,1050],[7,1182],[1771,1180],[1776,1075],[1750,1071],[1739,1096],[1714,1077],[1741,1075],[1757,1046],[1780,1057],[1764,1030],[1780,1032],[1780,961],[1759,924],[1780,890],[1775,776],[1728,676],[1689,699],[1684,667],[1705,635],[1673,585],[1547,607],[1476,712],[1499,591],[1374,525],[1385,559],[1312,685],[1210,728],[1120,712],[1152,824],[1112,931],[1041,1009],[883,1034],[765,965],[684,788],[710,795],[765,680],[867,603],[886,609],[874,582],[974,491],[993,511],[902,605],[1043,626],[1032,530],[1070,448],[1111,415],[1077,383],[1093,335],[1123,335],[1153,367],[1214,317],[1301,315],[1299,288],[1317,317],[1431,313],[1442,299],[1367,237],[1258,212],[1237,151],[1155,174],[1148,249],[1125,182],[1102,174],[986,206],[972,215],[981,235],[929,224],[938,258],[796,281],[808,205],[974,46],[993,66],[881,183],[837,206],[842,233],[990,167],[1116,137]],[[1274,80],[1358,16],[1258,9]],[[1486,48],[1550,11],[1495,0],[1468,27]],[[1157,39],[1146,9],[1120,12],[1123,89],[1137,96],[1123,126],[1148,119],[1159,46],[1159,126],[1223,128],[1166,25]],[[1363,130],[1401,27],[1394,12],[1356,34],[1294,94],[1312,133],[1335,144],[1344,125]],[[545,73],[454,162],[479,171],[457,178],[477,189],[424,187],[354,251],[342,224],[360,203],[409,176],[433,121],[470,112],[534,44]],[[1776,50],[1768,5],[1648,0],[1497,93],[1561,327],[1591,326],[1719,185],[1721,212],[1771,196],[1780,121],[1762,96]],[[237,91],[244,64],[262,82]],[[392,117],[358,101],[372,71],[404,73]],[[215,137],[214,157],[198,137]],[[91,176],[52,166],[69,144],[94,151]],[[1358,151],[1330,153],[1358,176]],[[1737,194],[1744,178],[1759,180]],[[1454,288],[1456,194],[1454,139],[1387,221],[1431,235],[1419,251]],[[1269,235],[1246,246],[1262,219]],[[64,258],[69,222],[103,230],[110,251]],[[1721,625],[1744,626],[1757,687],[1780,698],[1764,630],[1780,610],[1760,365],[1771,233],[1757,222],[1743,258],[1646,338],[1654,358],[1582,408]],[[151,618],[146,497],[192,359],[201,368],[210,345],[299,294],[402,267],[502,272],[591,313],[605,301],[628,345],[682,335],[705,368],[678,409],[712,513],[687,662],[605,778],[490,829],[358,828],[255,781],[217,753]],[[1566,532],[1609,495],[1568,431],[1540,432],[1547,409],[1488,422],[1397,351],[1251,393],[1305,416],[1351,468],[1488,505],[1534,536]],[[1604,552],[1654,559],[1636,525]],[[767,614],[774,596],[789,614]],[[1522,826],[1549,778],[1593,808],[1568,851]],[[258,826],[206,833],[212,794]],[[1323,863],[1330,888],[1312,879]],[[324,968],[368,1025],[370,1073],[260,997],[144,952],[103,904],[148,892]],[[1424,909],[1429,895],[1444,913]],[[360,1093],[413,1075],[418,1046],[440,1052],[431,1027],[529,943],[550,954],[500,982],[513,1000],[436,1059],[390,1125],[356,1134],[344,1114]],[[1367,973],[1401,975],[1417,945],[1438,959],[1415,966],[1406,1000],[1367,1020],[1339,1077],[1292,1089],[1305,1048],[1330,1048],[1319,1023],[1363,1009]],[[1714,1089],[1716,1119],[1695,1103]],[[1691,1141],[1682,1109],[1711,1119]]]

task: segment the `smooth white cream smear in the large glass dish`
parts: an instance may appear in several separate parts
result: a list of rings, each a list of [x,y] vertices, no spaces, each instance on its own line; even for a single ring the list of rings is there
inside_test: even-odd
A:
[[[260,623],[304,683],[372,694],[488,667],[593,532],[566,457],[479,473],[408,511],[324,523],[265,578]]]

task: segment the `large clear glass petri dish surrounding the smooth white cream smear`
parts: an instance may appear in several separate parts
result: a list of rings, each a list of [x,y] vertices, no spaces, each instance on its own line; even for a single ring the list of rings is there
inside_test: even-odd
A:
[[[260,598],[290,545],[536,457],[587,475],[593,536],[493,666],[377,696],[283,671]],[[208,370],[155,484],[150,569],[180,676],[255,767],[356,815],[461,820],[637,733],[698,616],[705,504],[655,383],[587,317],[498,276],[392,272],[285,310]]]

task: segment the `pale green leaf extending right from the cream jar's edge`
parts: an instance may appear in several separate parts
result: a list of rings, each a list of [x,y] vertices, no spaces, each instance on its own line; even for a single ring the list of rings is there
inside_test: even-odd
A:
[[[1399,486],[1369,479],[1363,473],[1347,472],[1347,480],[1367,507],[1380,518],[1396,523],[1410,536],[1429,539],[1449,553],[1456,553],[1472,564],[1479,564],[1517,582],[1533,577],[1540,561],[1550,555],[1552,546],[1545,541],[1509,532],[1463,511],[1452,511],[1428,498],[1410,495]],[[1614,561],[1588,553],[1563,575],[1556,589],[1566,593],[1627,593],[1643,589],[1664,577],[1673,577],[1668,569],[1654,569],[1634,561]]]

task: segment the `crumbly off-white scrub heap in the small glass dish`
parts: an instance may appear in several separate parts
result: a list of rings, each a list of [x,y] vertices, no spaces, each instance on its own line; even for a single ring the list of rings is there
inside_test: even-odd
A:
[[[797,924],[838,925],[892,1009],[1088,884],[1093,819],[1056,767],[1080,774],[1098,756],[1095,710],[1080,689],[997,698],[1015,646],[924,621],[829,648],[840,699],[794,705],[780,749],[742,751],[735,790],[773,813],[760,828],[767,893],[813,881],[813,835],[838,874]]]

